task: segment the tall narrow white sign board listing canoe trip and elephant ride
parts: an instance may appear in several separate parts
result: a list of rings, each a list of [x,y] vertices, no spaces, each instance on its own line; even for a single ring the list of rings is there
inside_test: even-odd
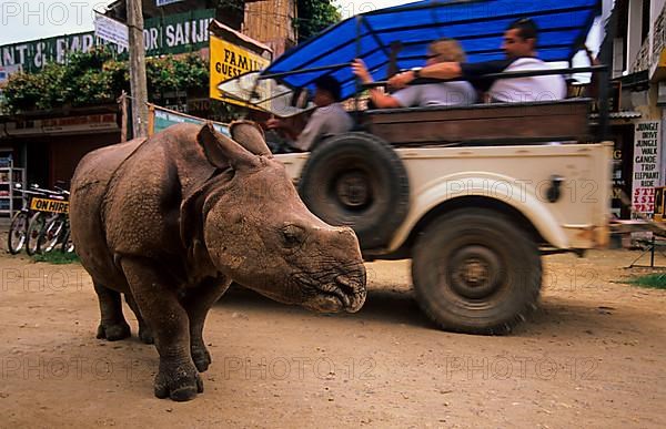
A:
[[[652,214],[655,208],[655,186],[662,174],[660,122],[638,122],[634,131],[634,176],[632,205],[634,212]]]

